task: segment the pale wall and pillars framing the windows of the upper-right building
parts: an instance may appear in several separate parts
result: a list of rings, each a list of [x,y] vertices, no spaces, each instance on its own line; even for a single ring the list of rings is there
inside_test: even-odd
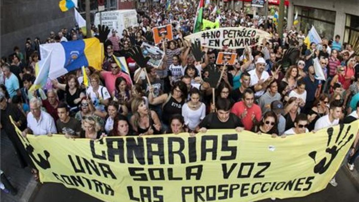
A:
[[[346,14],[358,15],[359,0],[291,0],[288,8],[288,29],[293,24],[294,6],[307,6],[336,12],[334,36],[344,39]]]

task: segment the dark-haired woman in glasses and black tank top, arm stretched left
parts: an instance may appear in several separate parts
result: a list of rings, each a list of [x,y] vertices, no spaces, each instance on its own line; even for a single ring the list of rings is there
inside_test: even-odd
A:
[[[172,91],[169,94],[163,94],[158,97],[153,97],[153,93],[148,96],[148,101],[151,105],[162,104],[162,121],[169,125],[169,118],[173,114],[182,114],[182,106],[185,104],[187,98],[187,86],[182,81],[177,81],[173,84]]]

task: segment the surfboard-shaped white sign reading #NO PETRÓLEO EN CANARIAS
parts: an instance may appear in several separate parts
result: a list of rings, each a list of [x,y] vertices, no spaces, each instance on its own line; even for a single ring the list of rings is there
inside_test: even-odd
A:
[[[241,49],[246,46],[256,46],[264,38],[270,38],[270,33],[260,29],[246,27],[223,27],[197,32],[186,36],[186,40],[201,41],[201,45],[212,49]]]

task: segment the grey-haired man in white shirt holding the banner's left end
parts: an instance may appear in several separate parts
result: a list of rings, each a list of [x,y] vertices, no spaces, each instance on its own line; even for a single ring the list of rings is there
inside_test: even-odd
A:
[[[27,133],[32,133],[36,136],[51,136],[52,133],[57,133],[52,116],[45,111],[41,111],[41,101],[34,97],[29,104],[31,112],[27,114],[27,129],[22,132],[22,135],[26,137]]]

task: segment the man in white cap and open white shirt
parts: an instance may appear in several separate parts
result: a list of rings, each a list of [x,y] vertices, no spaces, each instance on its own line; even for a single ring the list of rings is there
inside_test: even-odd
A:
[[[250,86],[255,86],[255,98],[259,98],[264,94],[265,89],[269,85],[269,83],[274,79],[270,77],[268,72],[264,69],[266,68],[266,61],[264,58],[258,58],[256,61],[256,69],[248,72],[251,75],[251,84]]]

